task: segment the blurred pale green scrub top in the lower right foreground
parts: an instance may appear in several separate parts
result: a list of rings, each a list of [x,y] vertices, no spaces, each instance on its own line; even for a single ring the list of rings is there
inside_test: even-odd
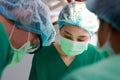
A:
[[[120,55],[77,69],[60,80],[120,80]]]

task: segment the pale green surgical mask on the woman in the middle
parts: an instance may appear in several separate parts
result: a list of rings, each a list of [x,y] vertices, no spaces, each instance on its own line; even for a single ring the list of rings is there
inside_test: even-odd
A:
[[[61,36],[59,41],[61,50],[67,56],[76,56],[82,54],[88,48],[88,42],[77,42],[66,39]]]

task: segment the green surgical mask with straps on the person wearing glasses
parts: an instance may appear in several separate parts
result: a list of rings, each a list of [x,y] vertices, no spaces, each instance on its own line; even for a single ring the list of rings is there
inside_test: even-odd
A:
[[[14,28],[15,28],[15,24],[12,27],[12,30],[11,30],[11,33],[10,33],[10,36],[9,36],[9,40],[11,39],[11,37],[13,35]],[[13,66],[13,65],[19,63],[23,59],[23,57],[25,56],[26,53],[28,53],[30,51],[34,52],[36,49],[38,49],[38,48],[35,48],[35,49],[31,48],[29,38],[30,38],[30,32],[28,33],[27,42],[22,47],[20,47],[19,49],[14,48],[11,44],[11,47],[12,47],[12,50],[13,50],[14,54],[13,54],[12,61],[10,62],[10,64],[8,66]]]

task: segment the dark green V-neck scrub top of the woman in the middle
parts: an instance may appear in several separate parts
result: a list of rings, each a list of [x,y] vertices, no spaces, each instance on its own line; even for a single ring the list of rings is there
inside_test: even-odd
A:
[[[88,50],[77,55],[68,67],[52,44],[43,47],[34,55],[29,80],[57,80],[74,69],[93,64],[101,59],[102,56],[95,47],[89,44]]]

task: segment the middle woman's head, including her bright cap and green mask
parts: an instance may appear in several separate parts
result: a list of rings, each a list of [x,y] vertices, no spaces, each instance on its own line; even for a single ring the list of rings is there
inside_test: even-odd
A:
[[[73,56],[87,50],[90,37],[97,31],[99,21],[87,10],[84,2],[72,2],[60,12],[58,24],[61,49],[66,55]]]

